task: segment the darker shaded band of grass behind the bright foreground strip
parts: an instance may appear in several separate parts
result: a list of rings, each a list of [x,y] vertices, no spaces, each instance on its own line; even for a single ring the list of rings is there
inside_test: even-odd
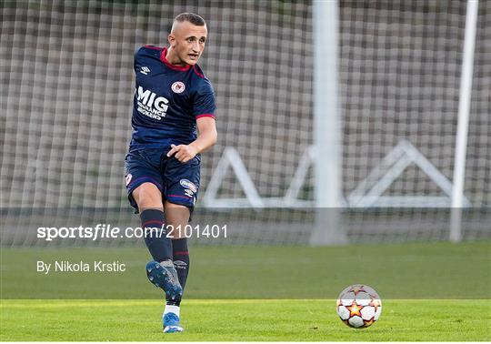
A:
[[[158,298],[137,248],[3,248],[2,298]],[[489,242],[191,247],[187,298],[337,298],[364,283],[382,298],[491,298]],[[119,260],[125,273],[37,273],[36,261]],[[258,289],[257,286],[260,286]]]

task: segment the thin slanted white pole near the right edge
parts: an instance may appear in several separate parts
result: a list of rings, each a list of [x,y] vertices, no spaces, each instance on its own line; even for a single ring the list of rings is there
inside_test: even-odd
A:
[[[452,213],[450,217],[450,240],[462,240],[462,200],[464,195],[464,177],[466,174],[466,147],[469,124],[470,100],[472,92],[472,72],[474,66],[474,47],[476,43],[478,0],[467,1],[466,35],[460,78],[458,104],[458,123],[456,133],[456,160],[454,165],[454,187],[452,190]]]

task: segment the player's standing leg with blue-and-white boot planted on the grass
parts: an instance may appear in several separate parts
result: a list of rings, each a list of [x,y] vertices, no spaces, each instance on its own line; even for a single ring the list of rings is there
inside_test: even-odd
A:
[[[172,233],[172,247],[175,270],[177,278],[183,291],[185,280],[189,268],[189,253],[187,250],[187,239],[185,238],[185,226],[189,221],[190,211],[188,207],[177,205],[171,202],[165,202],[165,218],[167,226],[174,228]],[[164,332],[180,332],[183,328],[180,326],[180,300],[167,300],[163,314]]]

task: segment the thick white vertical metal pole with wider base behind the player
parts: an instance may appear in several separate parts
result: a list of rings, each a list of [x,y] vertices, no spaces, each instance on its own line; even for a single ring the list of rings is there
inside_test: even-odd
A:
[[[346,243],[341,228],[341,127],[337,79],[337,0],[315,0],[314,25],[314,157],[316,224],[311,245]]]

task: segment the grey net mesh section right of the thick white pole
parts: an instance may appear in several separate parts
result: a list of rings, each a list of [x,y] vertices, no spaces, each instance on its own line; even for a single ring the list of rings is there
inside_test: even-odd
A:
[[[448,179],[456,147],[466,2],[343,2],[341,77],[344,190],[349,194],[386,154],[408,140]],[[490,204],[489,3],[479,8],[466,197]],[[486,74],[487,73],[487,74]],[[478,143],[477,143],[478,142]],[[441,196],[414,165],[391,195]]]

